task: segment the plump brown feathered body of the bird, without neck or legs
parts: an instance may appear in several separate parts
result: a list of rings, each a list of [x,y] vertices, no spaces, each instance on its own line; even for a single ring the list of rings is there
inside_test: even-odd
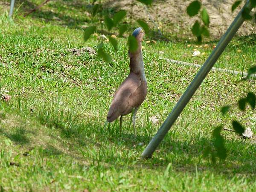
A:
[[[132,109],[140,106],[147,95],[147,82],[139,74],[130,73],[116,91],[107,120],[112,122],[120,115],[131,113]]]

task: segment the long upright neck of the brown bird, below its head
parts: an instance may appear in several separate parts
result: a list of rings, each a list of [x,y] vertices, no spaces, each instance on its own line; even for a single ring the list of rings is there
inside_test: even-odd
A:
[[[137,51],[133,53],[130,52],[129,56],[130,73],[135,73],[140,76],[142,81],[146,81],[141,43],[139,44]]]

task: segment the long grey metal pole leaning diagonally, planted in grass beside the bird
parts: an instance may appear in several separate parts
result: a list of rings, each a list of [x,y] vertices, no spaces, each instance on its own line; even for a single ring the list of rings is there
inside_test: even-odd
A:
[[[189,87],[187,87],[186,91],[183,93],[183,95],[180,97],[180,100],[177,102],[175,107],[172,109],[169,116],[166,118],[166,120],[163,122],[159,130],[157,131],[157,134],[153,137],[153,139],[150,141],[148,146],[145,148],[145,150],[142,153],[142,158],[150,158],[154,151],[156,150],[157,146],[161,143],[164,136],[168,133],[168,131],[171,129],[172,125],[174,124],[175,120],[178,118],[182,110],[185,108],[189,100],[192,98],[195,91],[198,89],[198,87],[201,85],[204,78],[207,76],[209,71],[212,69],[215,62],[218,60],[224,49],[227,47],[233,36],[236,34],[238,29],[240,28],[241,24],[244,22],[244,18],[242,16],[242,13],[244,9],[248,9],[250,12],[252,10],[252,5],[250,3],[250,0],[247,0],[244,7],[241,9],[239,14],[236,16],[236,18],[231,23],[230,27],[227,29],[227,32],[222,36],[221,40],[219,41],[217,47],[212,51],[211,55],[207,58],[204,65],[201,67],[201,69],[196,74],[193,81],[190,83]]]

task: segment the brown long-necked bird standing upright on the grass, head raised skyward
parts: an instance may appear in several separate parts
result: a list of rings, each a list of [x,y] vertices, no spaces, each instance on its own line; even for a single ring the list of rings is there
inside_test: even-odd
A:
[[[120,133],[122,131],[122,116],[133,112],[132,124],[134,134],[136,113],[147,95],[147,80],[145,77],[141,41],[144,36],[141,27],[134,30],[132,35],[136,38],[138,48],[135,52],[129,50],[130,74],[116,91],[107,115],[107,122],[113,122],[120,116]]]

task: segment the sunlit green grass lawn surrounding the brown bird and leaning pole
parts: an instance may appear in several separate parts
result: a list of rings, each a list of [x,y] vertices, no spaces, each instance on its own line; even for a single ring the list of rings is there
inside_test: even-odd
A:
[[[61,2],[67,6],[71,1]],[[0,186],[4,191],[255,189],[254,139],[223,131],[227,160],[214,165],[202,157],[204,148],[212,144],[212,130],[221,123],[231,128],[231,120],[239,119],[256,134],[255,111],[247,106],[241,112],[236,107],[248,91],[255,93],[256,84],[229,73],[210,72],[153,158],[140,159],[198,71],[161,60],[158,52],[200,64],[216,41],[204,43],[210,46],[206,48],[195,42],[143,42],[148,95],[137,114],[138,137],[134,138],[130,116],[124,117],[122,133],[118,121],[103,128],[113,93],[129,73],[126,38],[118,38],[116,53],[105,44],[113,55],[111,64],[97,55],[75,55],[68,49],[95,47],[102,39],[93,37],[85,43],[82,30],[76,24],[68,25],[70,18],[63,26],[63,20],[36,17],[67,13],[65,17],[71,19],[78,15],[77,24],[83,19],[86,8],[69,12],[58,6],[52,2],[43,12],[25,18],[18,13],[14,20],[5,15],[0,18],[0,89],[12,96],[9,103],[0,101]],[[247,69],[255,62],[255,41],[253,35],[236,37],[217,65]],[[206,55],[192,57],[193,49]],[[223,117],[220,108],[226,104],[233,107]],[[159,119],[157,124],[151,123],[152,116]]]

